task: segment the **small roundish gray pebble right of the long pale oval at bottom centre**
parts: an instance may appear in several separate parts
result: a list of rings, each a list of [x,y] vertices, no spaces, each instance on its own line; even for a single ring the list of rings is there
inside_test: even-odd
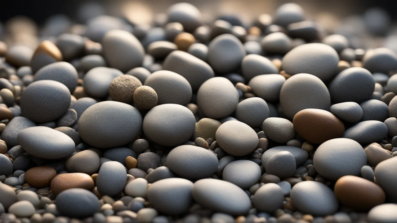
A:
[[[256,190],[254,194],[254,207],[258,211],[274,213],[281,208],[284,194],[281,187],[275,183],[267,183]]]

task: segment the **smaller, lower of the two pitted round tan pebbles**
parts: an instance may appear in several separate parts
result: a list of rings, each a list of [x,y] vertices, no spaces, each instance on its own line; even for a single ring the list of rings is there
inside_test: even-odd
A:
[[[135,107],[143,110],[150,110],[157,105],[158,95],[156,91],[149,86],[138,87],[133,95]]]

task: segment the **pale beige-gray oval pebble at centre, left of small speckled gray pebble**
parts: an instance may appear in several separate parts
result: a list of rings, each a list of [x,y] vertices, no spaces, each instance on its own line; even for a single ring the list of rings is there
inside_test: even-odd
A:
[[[249,125],[240,121],[227,121],[216,130],[219,146],[230,155],[245,156],[258,146],[258,136]]]

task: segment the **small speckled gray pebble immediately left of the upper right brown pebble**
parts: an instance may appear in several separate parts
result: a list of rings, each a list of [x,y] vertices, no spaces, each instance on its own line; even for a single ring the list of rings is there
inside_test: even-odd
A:
[[[264,120],[262,126],[265,135],[278,143],[287,143],[296,136],[294,126],[288,119],[270,117]]]

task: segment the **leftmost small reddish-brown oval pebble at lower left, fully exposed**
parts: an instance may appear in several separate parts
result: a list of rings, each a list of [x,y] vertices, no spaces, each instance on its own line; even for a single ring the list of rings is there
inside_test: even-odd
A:
[[[52,179],[56,176],[56,170],[48,166],[39,166],[28,169],[25,173],[25,181],[30,186],[43,188],[50,186]]]

